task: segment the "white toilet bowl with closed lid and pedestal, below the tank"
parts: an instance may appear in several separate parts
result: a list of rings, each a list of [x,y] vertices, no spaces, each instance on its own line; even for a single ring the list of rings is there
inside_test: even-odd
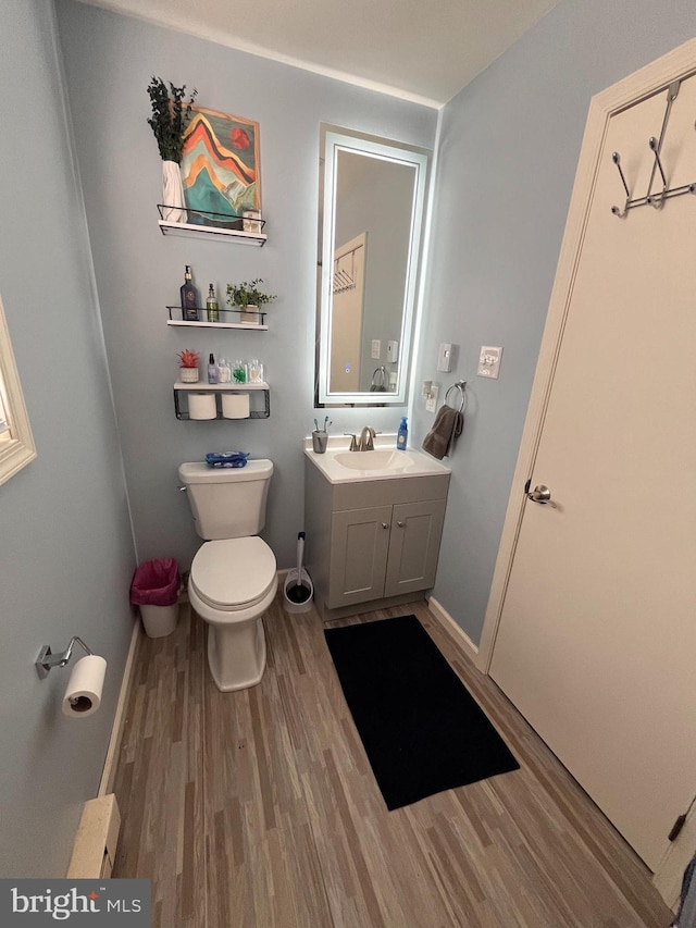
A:
[[[275,556],[258,536],[206,542],[194,557],[188,598],[208,622],[208,664],[219,690],[244,690],[263,677],[262,617],[277,585]]]

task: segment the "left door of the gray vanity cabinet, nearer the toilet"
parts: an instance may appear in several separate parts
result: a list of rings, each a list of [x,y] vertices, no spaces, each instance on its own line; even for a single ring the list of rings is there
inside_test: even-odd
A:
[[[333,514],[330,609],[384,596],[390,527],[391,506]]]

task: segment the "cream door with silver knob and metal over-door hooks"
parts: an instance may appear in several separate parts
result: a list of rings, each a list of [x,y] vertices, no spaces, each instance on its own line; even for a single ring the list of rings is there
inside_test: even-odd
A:
[[[556,506],[524,505],[490,664],[652,869],[696,790],[696,196],[610,208],[626,199],[614,151],[632,197],[647,193],[667,83],[586,154],[589,206],[526,471]],[[695,117],[692,76],[662,145],[670,188],[696,182]]]

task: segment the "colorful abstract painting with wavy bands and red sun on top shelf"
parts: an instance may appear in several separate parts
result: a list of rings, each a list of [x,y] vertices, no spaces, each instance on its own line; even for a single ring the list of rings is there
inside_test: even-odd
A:
[[[188,222],[241,228],[243,210],[261,209],[259,123],[192,108],[182,178]]]

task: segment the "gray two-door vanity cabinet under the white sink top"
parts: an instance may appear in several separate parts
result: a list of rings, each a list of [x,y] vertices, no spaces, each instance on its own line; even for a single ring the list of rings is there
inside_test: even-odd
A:
[[[332,484],[307,462],[306,562],[325,619],[423,598],[449,474]]]

